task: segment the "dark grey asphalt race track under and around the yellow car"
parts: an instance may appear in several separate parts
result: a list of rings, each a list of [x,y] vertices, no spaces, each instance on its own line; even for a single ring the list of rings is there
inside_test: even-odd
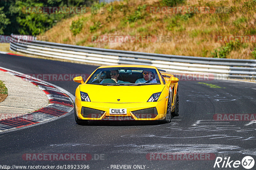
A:
[[[25,74],[91,74],[97,68],[7,54],[0,54],[0,66]],[[78,86],[73,81],[49,82],[73,95]],[[89,169],[95,170],[113,169],[111,165],[132,165],[131,169],[133,165],[145,165],[148,170],[214,169],[215,159],[148,160],[148,153],[210,153],[230,157],[230,160],[241,161],[244,156],[256,160],[256,121],[213,118],[214,114],[255,114],[256,84],[226,80],[180,81],[179,95],[180,116],[170,124],[93,121],[79,126],[72,112],[49,123],[0,134],[0,165],[89,165]],[[23,160],[22,155],[26,153],[89,153],[92,159]],[[100,154],[102,160],[98,159]],[[244,168],[240,165],[236,169]]]

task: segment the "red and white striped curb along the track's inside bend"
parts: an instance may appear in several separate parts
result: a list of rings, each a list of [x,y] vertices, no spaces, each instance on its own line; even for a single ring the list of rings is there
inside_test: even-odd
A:
[[[39,87],[39,89],[45,92],[50,103],[46,107],[36,110],[32,113],[28,113],[19,117],[12,117],[0,120],[0,133],[33,124],[52,121],[61,116],[67,116],[68,113],[70,113],[74,109],[73,103],[75,100],[75,96],[73,96],[65,89],[62,89],[59,86],[56,86],[49,82],[37,79],[30,75],[13,71],[4,67],[0,67],[0,70],[21,77],[23,80],[35,84]]]

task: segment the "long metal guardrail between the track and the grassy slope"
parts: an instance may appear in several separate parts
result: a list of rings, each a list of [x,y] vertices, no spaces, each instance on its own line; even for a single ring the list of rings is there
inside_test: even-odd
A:
[[[256,78],[256,60],[220,59],[143,53],[76,46],[11,35],[10,49],[16,52],[82,61],[99,65],[141,64],[156,66],[173,74],[212,74],[223,78]]]

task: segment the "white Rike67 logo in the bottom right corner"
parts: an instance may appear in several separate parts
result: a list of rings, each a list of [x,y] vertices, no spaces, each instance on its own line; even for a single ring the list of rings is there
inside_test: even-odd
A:
[[[222,157],[217,157],[214,163],[214,168],[217,166],[218,168],[238,168],[240,166],[243,166],[245,169],[251,169],[254,166],[254,159],[251,156],[245,156],[242,161],[240,160],[230,160],[230,157],[225,157],[224,159]]]

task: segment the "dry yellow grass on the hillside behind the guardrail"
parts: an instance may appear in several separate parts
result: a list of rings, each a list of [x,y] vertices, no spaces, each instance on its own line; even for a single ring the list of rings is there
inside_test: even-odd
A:
[[[255,30],[256,12],[244,11],[243,4],[250,0],[227,0],[227,1],[197,1],[188,0],[186,4],[180,6],[206,6],[213,3],[214,6],[235,7],[236,10],[228,14],[195,14],[187,20],[177,20],[177,26],[170,27],[170,22],[176,14],[147,13],[147,15],[135,22],[124,20],[132,15],[137,7],[143,4],[148,6],[160,6],[159,0],[138,0],[123,1],[107,4],[101,13],[96,15],[84,14],[73,18],[64,19],[52,29],[44,33],[51,42],[66,43],[81,46],[93,46],[99,48],[111,48],[119,50],[140,51],[148,53],[164,53],[174,55],[211,57],[211,52],[225,43],[216,42],[217,35],[249,35],[248,30]],[[201,3],[201,4],[199,4]],[[112,6],[113,12],[107,9]],[[122,10],[121,10],[122,9]],[[87,18],[82,31],[73,36],[70,31],[72,21],[79,18]],[[239,18],[246,18],[239,25],[234,23]],[[101,27],[95,32],[90,32],[90,26],[94,22],[100,22]],[[169,29],[168,29],[169,28]],[[256,34],[256,33],[255,33]],[[151,35],[151,36],[171,36],[169,42],[90,42],[92,36],[100,35]],[[253,59],[252,51],[255,43],[243,43],[240,48],[232,50],[227,58]]]

